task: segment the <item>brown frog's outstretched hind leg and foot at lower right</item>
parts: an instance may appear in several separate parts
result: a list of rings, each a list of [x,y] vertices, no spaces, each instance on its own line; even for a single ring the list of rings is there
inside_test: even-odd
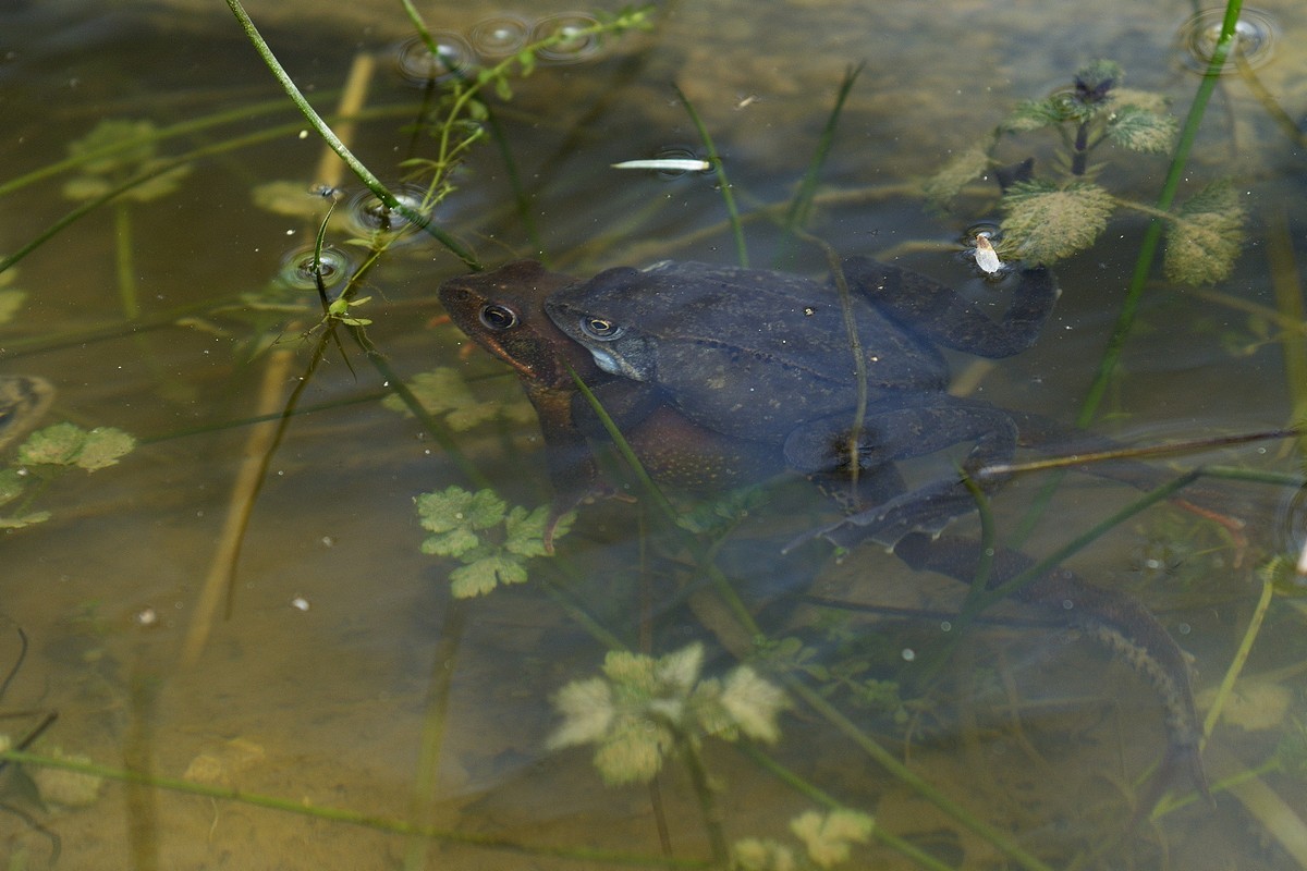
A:
[[[971,582],[979,562],[979,542],[958,537],[932,539],[924,534],[903,537],[894,554],[915,569]],[[993,556],[989,586],[999,586],[1025,572],[1034,560],[1019,551],[999,548]],[[1057,568],[1023,588],[1016,598],[1047,609],[1057,619],[1078,628],[1106,646],[1112,656],[1146,679],[1165,712],[1167,750],[1162,765],[1141,795],[1136,817],[1148,814],[1168,787],[1185,777],[1212,798],[1199,756],[1202,734],[1189,663],[1166,628],[1137,599],[1094,586],[1073,572]]]

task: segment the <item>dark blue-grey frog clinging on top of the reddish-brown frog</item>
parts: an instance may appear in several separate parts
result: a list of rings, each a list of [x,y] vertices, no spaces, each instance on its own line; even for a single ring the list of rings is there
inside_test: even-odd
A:
[[[1001,320],[933,278],[867,257],[840,265],[850,287],[867,383],[857,462],[878,469],[972,444],[968,473],[1006,461],[1012,415],[946,393],[940,347],[1009,356],[1029,347],[1057,299],[1043,268],[1012,279]],[[831,283],[763,269],[660,262],[609,269],[562,289],[545,311],[589,349],[605,372],[648,387],[690,420],[738,439],[783,444],[789,466],[844,473],[857,367]],[[985,482],[993,487],[1000,479]],[[974,498],[955,475],[853,513],[829,538],[891,547],[911,531],[938,533]]]

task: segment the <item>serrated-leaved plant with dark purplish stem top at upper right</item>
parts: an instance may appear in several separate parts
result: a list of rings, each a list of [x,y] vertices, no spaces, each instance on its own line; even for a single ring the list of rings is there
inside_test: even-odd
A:
[[[1243,204],[1229,180],[1208,184],[1174,209],[1119,197],[1097,180],[1104,166],[1090,158],[1102,146],[1165,154],[1179,131],[1163,95],[1123,87],[1124,78],[1115,61],[1094,60],[1076,72],[1069,87],[1017,104],[980,144],[925,183],[928,200],[946,208],[968,183],[995,174],[1005,215],[999,253],[1033,264],[1051,264],[1089,248],[1117,209],[1133,209],[1165,222],[1165,269],[1171,281],[1222,281],[1239,255],[1244,223]],[[1060,137],[1053,178],[1038,176],[1033,159],[1005,167],[996,157],[1006,138],[1035,132]]]

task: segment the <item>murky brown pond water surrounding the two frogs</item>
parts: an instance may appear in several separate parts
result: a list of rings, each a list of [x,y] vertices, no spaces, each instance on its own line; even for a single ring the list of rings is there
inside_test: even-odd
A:
[[[14,521],[0,538],[0,671],[16,666],[0,731],[21,742],[58,713],[25,750],[91,760],[108,777],[39,761],[0,770],[0,867],[43,867],[56,842],[68,868],[710,867],[723,842],[749,838],[735,847],[748,867],[789,867],[786,855],[827,867],[842,846],[842,867],[1307,867],[1294,810],[1307,807],[1307,611],[1291,580],[1206,746],[1214,802],[1180,777],[1168,810],[1133,825],[1165,746],[1146,682],[1018,606],[958,633],[963,589],[874,545],[782,556],[838,517],[797,475],[724,512],[731,522],[697,548],[618,475],[627,495],[583,505],[553,556],[503,558],[527,582],[455,601],[451,576],[465,577],[471,556],[422,551],[431,533],[414,499],[463,487],[525,509],[550,500],[520,385],[443,317],[437,287],[468,268],[429,234],[405,234],[375,262],[350,244],[366,231],[339,218],[367,212],[363,187],[324,157],[225,9],[103,5],[0,10],[0,253],[17,257],[0,273],[0,384],[54,390],[48,404],[16,402],[16,418],[42,419],[14,420],[0,448],[5,486],[26,487],[0,505]],[[485,67],[519,38],[586,26],[562,5],[417,5],[442,44],[469,46]],[[1183,119],[1202,82],[1184,35],[1195,12],[1178,0],[655,4],[651,29],[565,43],[528,78],[506,80],[511,99],[488,93],[495,133],[457,155],[434,225],[490,268],[738,262],[718,176],[610,168],[706,155],[674,84],[729,174],[750,262],[823,281],[822,251],[778,218],[842,78],[864,64],[805,226],[840,252],[988,294],[962,252],[968,229],[1002,217],[997,187],[974,182],[941,210],[923,183],[1097,57]],[[400,4],[269,1],[250,13],[319,111],[362,112],[332,123],[376,176],[430,180],[433,119],[454,85],[397,71],[414,34]],[[1179,200],[1230,179],[1247,239],[1229,276],[1199,290],[1153,269],[1093,415],[1097,432],[1132,444],[1272,430],[1307,409],[1295,265],[1307,257],[1307,8],[1268,0],[1244,21],[1248,56],[1214,89]],[[410,43],[406,54],[426,69]],[[115,137],[145,145],[111,151]],[[1060,144],[1035,131],[1006,138],[1000,157],[1033,155],[1036,175],[1056,179]],[[1086,178],[1157,202],[1168,149],[1104,144],[1093,158]],[[371,321],[362,329],[383,356],[363,354],[348,325],[339,343],[320,341],[312,276],[295,269],[331,200],[311,193],[320,185],[339,188],[324,240],[342,272],[367,262],[356,299],[370,299],[348,315]],[[984,368],[958,355],[957,389],[1074,420],[1148,221],[1117,209],[1089,249],[1059,262],[1063,294],[1035,347]],[[1216,226],[1201,247],[1238,242]],[[387,400],[397,379],[417,389],[433,371],[437,387],[420,396],[434,422]],[[80,427],[56,431],[65,436],[112,427],[136,448],[94,471],[30,462],[17,428],[52,424]],[[927,458],[914,474],[950,462]],[[1263,614],[1260,569],[1302,548],[1302,457],[1266,441],[1154,462],[1268,475],[1204,482],[1229,494],[1243,538],[1159,505],[1067,563],[1153,609],[1193,658],[1204,716]],[[1023,545],[1036,556],[1137,499],[1073,475],[1040,503],[1047,481],[1021,477],[993,505],[1002,541],[1031,505],[1042,512]],[[502,537],[488,524],[481,535]],[[955,529],[979,534],[970,517]],[[766,636],[752,673],[735,671],[735,657],[753,628],[714,578]],[[580,709],[601,720],[595,679],[613,645],[682,652],[664,670],[701,678],[701,693],[748,697],[745,733],[767,731],[769,692],[750,689],[749,674],[779,684],[788,663],[809,696],[791,687],[775,743],[665,742],[654,786],[608,786],[592,747],[552,750],[550,736],[563,722],[555,701],[587,688]],[[583,683],[559,695],[570,682]],[[633,726],[623,746],[639,757],[659,734],[672,733]],[[927,786],[890,773],[869,740]],[[833,803],[856,815],[812,816]]]

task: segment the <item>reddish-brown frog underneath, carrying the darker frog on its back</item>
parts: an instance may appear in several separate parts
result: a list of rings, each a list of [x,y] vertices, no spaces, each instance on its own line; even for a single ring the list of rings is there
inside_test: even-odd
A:
[[[667,404],[650,405],[650,393],[639,383],[600,371],[592,355],[571,342],[544,315],[545,299],[574,279],[549,273],[540,264],[519,261],[491,273],[454,278],[440,287],[451,319],[468,336],[512,366],[532,402],[540,411],[541,428],[552,449],[561,457],[549,458],[555,486],[555,512],[571,508],[595,481],[593,465],[586,449],[583,431],[588,404],[580,397],[567,366],[597,388],[606,404],[621,406],[616,417],[623,436],[642,462],[655,474],[689,470],[682,481],[704,483],[711,470],[727,473],[721,483],[744,483],[774,474],[782,465],[788,435],[772,434],[771,441],[732,437],[687,419],[684,411]],[[1067,444],[1065,428],[1035,415],[1010,413],[1006,418],[1018,431],[1018,440]],[[623,423],[625,420],[625,423]],[[1076,449],[1100,448],[1102,439],[1076,436]],[[664,457],[684,454],[681,460]],[[789,464],[793,465],[793,464]],[[1134,464],[1111,477],[1136,486],[1155,486],[1159,477]],[[903,492],[902,479],[891,464],[882,464],[869,475],[861,494],[893,499]],[[893,551],[914,568],[938,572],[963,582],[975,577],[978,542],[907,531],[898,537]],[[999,585],[1029,568],[1030,558],[999,548],[991,584]],[[1157,688],[1166,710],[1168,751],[1155,778],[1155,790],[1168,785],[1180,770],[1206,793],[1206,781],[1197,756],[1199,726],[1189,688],[1188,665],[1166,629],[1128,595],[1100,590],[1074,573],[1055,569],[1022,590],[1023,601],[1048,607],[1061,619],[1084,628],[1114,653],[1131,662]],[[1070,607],[1068,607],[1070,605]]]

